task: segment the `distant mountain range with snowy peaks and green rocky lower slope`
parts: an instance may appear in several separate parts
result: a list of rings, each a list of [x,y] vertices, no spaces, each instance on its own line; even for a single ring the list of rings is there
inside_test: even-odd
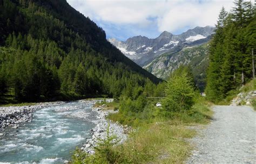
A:
[[[190,65],[197,85],[201,88],[205,84],[205,69],[208,62],[207,43],[212,38],[214,30],[215,27],[212,26],[195,27],[178,35],[164,31],[154,39],[139,35],[126,41],[114,38],[108,41],[128,58],[161,79],[167,79],[180,65]]]

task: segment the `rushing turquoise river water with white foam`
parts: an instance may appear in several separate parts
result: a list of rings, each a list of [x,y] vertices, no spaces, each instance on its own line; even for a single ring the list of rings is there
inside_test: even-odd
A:
[[[30,123],[7,129],[0,140],[0,163],[63,163],[90,138],[93,103],[70,102],[33,113]]]

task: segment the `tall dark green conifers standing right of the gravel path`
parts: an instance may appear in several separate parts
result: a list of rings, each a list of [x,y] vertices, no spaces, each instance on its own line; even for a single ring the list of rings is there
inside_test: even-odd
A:
[[[206,95],[218,102],[253,77],[255,6],[246,1],[235,1],[235,8],[230,13],[224,8],[221,10],[216,27],[210,44]]]

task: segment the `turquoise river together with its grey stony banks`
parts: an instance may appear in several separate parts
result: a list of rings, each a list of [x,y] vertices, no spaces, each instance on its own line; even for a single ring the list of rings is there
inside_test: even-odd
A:
[[[94,108],[99,101],[103,99],[1,107],[0,163],[45,159],[64,163],[77,146],[92,154],[97,139],[105,138],[107,126],[123,142],[129,128],[107,120],[109,113],[117,111]]]

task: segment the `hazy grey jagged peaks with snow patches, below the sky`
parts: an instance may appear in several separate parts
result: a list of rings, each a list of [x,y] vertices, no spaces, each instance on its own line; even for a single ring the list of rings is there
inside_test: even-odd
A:
[[[176,53],[187,46],[204,44],[211,39],[214,29],[211,26],[196,27],[179,35],[164,31],[155,39],[137,36],[126,41],[108,40],[128,58],[144,67],[161,54]]]

